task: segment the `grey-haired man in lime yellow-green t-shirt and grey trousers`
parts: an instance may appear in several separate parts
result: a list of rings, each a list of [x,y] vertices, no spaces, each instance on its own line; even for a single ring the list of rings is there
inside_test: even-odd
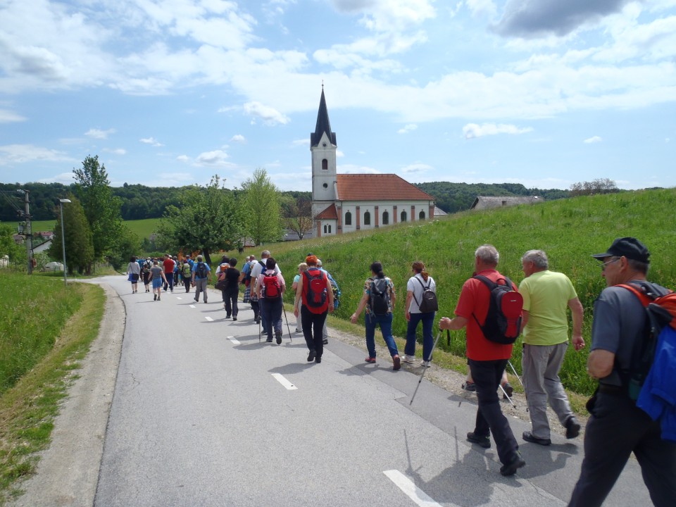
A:
[[[580,434],[580,423],[570,409],[558,372],[568,349],[568,315],[572,314],[572,346],[584,348],[582,319],[584,308],[575,287],[566,275],[549,270],[549,260],[542,250],[529,250],[521,258],[526,277],[519,284],[523,296],[523,351],[521,368],[532,430],[523,432],[526,442],[548,446],[549,420],[547,399],[559,423],[565,427],[565,437]]]

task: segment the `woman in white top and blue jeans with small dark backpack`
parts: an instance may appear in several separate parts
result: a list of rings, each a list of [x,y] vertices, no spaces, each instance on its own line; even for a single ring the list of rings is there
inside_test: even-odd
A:
[[[415,330],[419,323],[423,323],[423,366],[430,365],[432,356],[432,346],[434,346],[434,336],[432,335],[432,326],[434,325],[434,315],[436,312],[423,313],[420,311],[420,303],[423,301],[423,291],[429,288],[432,292],[437,292],[437,283],[434,278],[425,270],[425,264],[421,261],[415,261],[411,265],[413,276],[406,282],[406,304],[404,312],[408,327],[406,328],[406,347],[404,347],[404,363],[413,363],[415,361]]]

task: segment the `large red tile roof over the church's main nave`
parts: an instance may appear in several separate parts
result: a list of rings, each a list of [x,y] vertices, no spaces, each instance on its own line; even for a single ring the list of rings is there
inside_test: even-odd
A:
[[[337,178],[339,201],[434,201],[394,174],[339,174]]]

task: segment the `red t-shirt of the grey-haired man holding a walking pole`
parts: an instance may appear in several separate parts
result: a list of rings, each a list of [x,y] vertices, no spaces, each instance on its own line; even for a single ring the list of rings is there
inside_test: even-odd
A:
[[[492,282],[503,277],[494,269],[483,270],[477,275],[483,275]],[[512,356],[511,344],[502,345],[486,339],[477,323],[477,319],[480,323],[486,320],[490,302],[491,292],[484,282],[476,278],[465,281],[455,313],[458,317],[467,319],[467,358],[472,361],[496,361]]]

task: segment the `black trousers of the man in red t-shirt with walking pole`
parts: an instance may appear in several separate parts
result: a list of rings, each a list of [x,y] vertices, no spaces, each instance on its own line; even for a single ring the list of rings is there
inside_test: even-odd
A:
[[[519,450],[512,429],[500,408],[497,393],[507,360],[473,361],[470,359],[467,362],[470,365],[472,380],[477,386],[477,401],[479,401],[474,434],[477,437],[488,437],[489,433],[492,433],[498,449],[498,457],[503,465],[506,465],[513,461]]]

